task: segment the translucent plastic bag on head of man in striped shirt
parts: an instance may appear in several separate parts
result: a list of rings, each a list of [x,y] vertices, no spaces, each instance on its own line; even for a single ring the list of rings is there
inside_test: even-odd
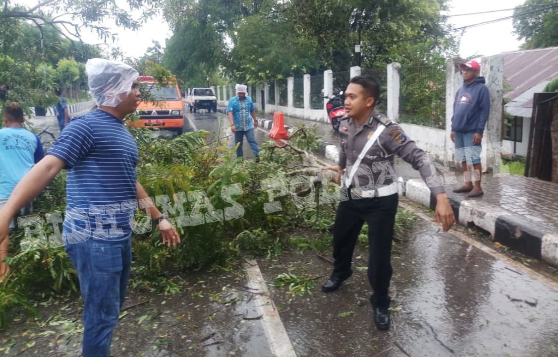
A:
[[[116,107],[130,92],[139,73],[118,61],[92,58],[85,64],[89,92],[97,106]]]

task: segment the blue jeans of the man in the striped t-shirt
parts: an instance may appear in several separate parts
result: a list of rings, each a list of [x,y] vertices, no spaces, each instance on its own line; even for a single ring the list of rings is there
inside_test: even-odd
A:
[[[132,240],[67,244],[83,296],[83,357],[109,357],[132,264]]]

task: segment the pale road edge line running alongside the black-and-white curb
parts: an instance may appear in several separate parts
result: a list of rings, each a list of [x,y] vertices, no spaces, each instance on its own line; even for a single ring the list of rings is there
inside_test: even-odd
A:
[[[429,215],[425,215],[422,212],[417,212],[414,209],[414,207],[411,207],[410,205],[408,205],[406,203],[400,202],[399,206],[401,206],[402,208],[405,208],[405,210],[413,211],[415,213],[415,215],[421,217],[425,221],[432,222],[432,219],[435,218],[434,216],[429,216]],[[482,244],[481,242],[479,242],[479,241],[477,241],[473,238],[470,238],[470,237],[464,235],[461,232],[450,229],[449,234],[451,234],[455,237],[458,237],[459,239],[467,242],[468,244],[474,246],[477,249],[480,249],[480,250],[484,251],[484,253],[492,255],[494,258],[496,258],[498,260],[502,260],[504,263],[507,263],[508,265],[512,266],[513,269],[518,270],[519,272],[521,272],[523,274],[529,275],[533,279],[536,279],[539,282],[545,284],[547,287],[550,287],[550,288],[554,289],[555,291],[558,291],[558,282],[556,282],[554,279],[550,279],[548,277],[545,277],[545,275],[543,275],[541,273],[538,273],[531,268],[528,268],[527,266],[519,263],[518,261],[515,261],[512,258],[509,258],[509,256],[503,255],[502,253],[499,253],[498,251]]]

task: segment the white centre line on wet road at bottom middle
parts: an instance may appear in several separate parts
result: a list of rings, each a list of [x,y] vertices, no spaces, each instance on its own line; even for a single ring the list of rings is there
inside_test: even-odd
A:
[[[254,299],[258,299],[255,306],[258,314],[262,315],[261,322],[267,341],[270,344],[271,353],[276,357],[296,357],[295,349],[288,338],[287,330],[283,326],[279,312],[273,303],[270,291],[263,280],[262,272],[259,270],[256,260],[246,260],[244,263],[248,286],[259,292]]]

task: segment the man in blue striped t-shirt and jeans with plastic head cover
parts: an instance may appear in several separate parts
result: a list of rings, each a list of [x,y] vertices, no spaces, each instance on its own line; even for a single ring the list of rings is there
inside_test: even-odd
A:
[[[73,120],[13,190],[0,210],[0,242],[6,239],[9,218],[60,170],[68,170],[62,238],[84,300],[82,356],[109,357],[126,297],[137,200],[154,218],[163,244],[176,246],[180,237],[136,180],[138,149],[123,119],[140,103],[138,73],[126,64],[98,58],[88,60],[85,70],[99,108]]]

